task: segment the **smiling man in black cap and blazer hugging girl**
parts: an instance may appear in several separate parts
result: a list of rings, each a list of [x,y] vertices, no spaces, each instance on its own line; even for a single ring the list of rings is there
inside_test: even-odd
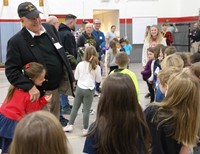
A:
[[[12,85],[29,92],[31,101],[38,100],[47,91],[52,93],[47,109],[58,117],[59,90],[72,95],[74,77],[56,29],[47,23],[41,24],[40,13],[30,2],[18,6],[23,28],[8,41],[5,72]],[[46,81],[39,87],[22,71],[25,64],[33,61],[47,69]]]

